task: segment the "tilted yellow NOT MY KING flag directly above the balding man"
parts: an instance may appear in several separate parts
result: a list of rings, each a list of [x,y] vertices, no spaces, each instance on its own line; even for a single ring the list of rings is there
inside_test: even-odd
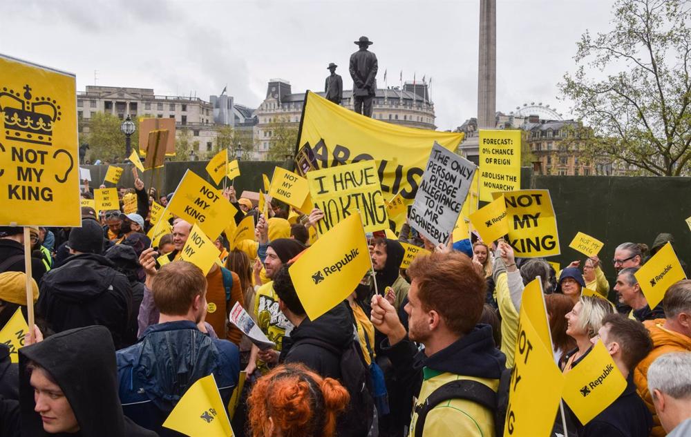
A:
[[[198,224],[202,232],[214,239],[225,229],[229,217],[237,212],[216,188],[189,169],[167,209],[182,220]]]

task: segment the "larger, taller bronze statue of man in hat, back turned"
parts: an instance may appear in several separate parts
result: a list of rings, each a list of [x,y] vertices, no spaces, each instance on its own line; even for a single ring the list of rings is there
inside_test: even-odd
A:
[[[377,92],[377,55],[367,50],[372,44],[368,37],[353,41],[360,50],[350,55],[350,77],[355,112],[372,117],[372,98]]]

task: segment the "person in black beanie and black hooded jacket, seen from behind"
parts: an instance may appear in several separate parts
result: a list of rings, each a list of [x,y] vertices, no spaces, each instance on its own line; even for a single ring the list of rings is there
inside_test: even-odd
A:
[[[100,324],[111,331],[117,349],[129,346],[132,287],[102,255],[101,227],[82,220],[82,227],[70,232],[68,245],[65,264],[41,281],[37,314],[55,332]]]

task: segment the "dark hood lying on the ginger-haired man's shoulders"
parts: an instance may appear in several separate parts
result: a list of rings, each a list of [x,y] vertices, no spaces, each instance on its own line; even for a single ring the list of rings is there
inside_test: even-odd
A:
[[[478,324],[460,340],[426,358],[424,365],[458,375],[498,379],[507,366],[507,357],[495,347],[492,327]]]

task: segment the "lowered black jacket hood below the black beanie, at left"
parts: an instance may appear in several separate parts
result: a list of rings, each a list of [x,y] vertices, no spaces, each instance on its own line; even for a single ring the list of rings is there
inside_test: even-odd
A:
[[[44,275],[43,287],[68,302],[89,302],[108,291],[113,284],[115,264],[94,253],[79,253],[65,260],[65,264]]]

